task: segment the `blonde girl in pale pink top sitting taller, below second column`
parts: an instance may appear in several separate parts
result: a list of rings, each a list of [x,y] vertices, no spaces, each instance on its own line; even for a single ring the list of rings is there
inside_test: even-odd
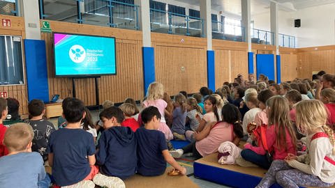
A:
[[[148,87],[147,95],[148,95],[147,100],[144,100],[142,102],[143,108],[153,106],[158,109],[158,111],[161,113],[161,125],[158,128],[158,130],[165,134],[166,140],[172,140],[173,139],[172,132],[170,130],[170,127],[166,125],[166,120],[165,120],[165,112],[168,112],[165,110],[165,108],[168,106],[168,103],[166,103],[163,100],[163,96],[164,96],[163,84],[157,81],[152,82]],[[141,124],[142,122],[140,122],[140,125]]]

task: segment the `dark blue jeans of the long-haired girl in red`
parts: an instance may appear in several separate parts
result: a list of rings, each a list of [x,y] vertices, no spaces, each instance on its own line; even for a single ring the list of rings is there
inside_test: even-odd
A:
[[[244,149],[241,151],[241,156],[246,161],[257,164],[263,169],[269,169],[271,166],[271,163],[267,160],[265,155],[258,155],[253,150]]]

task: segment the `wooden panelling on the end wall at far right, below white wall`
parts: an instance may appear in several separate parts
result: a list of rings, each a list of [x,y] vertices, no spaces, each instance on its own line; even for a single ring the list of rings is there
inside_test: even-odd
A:
[[[320,70],[335,74],[335,45],[301,48],[297,52],[297,72],[299,78],[311,79],[313,71]]]

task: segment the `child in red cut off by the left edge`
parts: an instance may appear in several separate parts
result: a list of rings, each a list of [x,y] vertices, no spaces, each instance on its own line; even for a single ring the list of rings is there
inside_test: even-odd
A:
[[[7,127],[3,125],[3,120],[6,119],[8,113],[7,100],[0,97],[0,157],[8,154],[6,146],[3,145],[3,139],[5,137],[5,132]]]

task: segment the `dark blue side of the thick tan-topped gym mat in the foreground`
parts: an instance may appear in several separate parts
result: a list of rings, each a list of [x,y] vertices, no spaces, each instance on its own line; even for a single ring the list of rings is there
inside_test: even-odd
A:
[[[218,168],[198,162],[193,163],[194,177],[216,182],[229,187],[256,187],[262,178],[237,171]],[[271,188],[281,188],[274,184]]]

